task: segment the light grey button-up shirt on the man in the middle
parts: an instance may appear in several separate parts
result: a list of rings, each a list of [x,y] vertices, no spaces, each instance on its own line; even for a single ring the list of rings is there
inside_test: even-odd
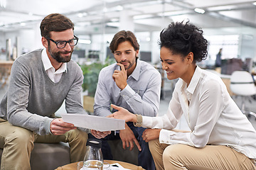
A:
[[[112,79],[115,69],[120,70],[117,64],[111,64],[100,71],[94,114],[110,115],[112,103],[134,114],[156,116],[160,102],[160,73],[151,64],[137,60],[134,72],[127,79],[127,86],[121,91]]]

